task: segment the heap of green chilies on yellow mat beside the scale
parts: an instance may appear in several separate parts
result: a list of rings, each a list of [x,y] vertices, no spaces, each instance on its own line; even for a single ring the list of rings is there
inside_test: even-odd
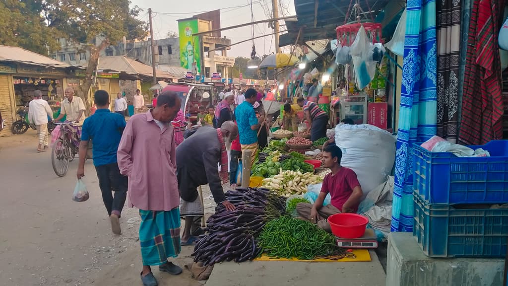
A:
[[[339,250],[333,235],[315,224],[289,216],[267,222],[258,242],[263,252],[274,258],[312,260]]]

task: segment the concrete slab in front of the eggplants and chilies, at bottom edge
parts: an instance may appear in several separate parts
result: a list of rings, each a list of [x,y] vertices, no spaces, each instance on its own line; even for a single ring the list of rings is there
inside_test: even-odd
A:
[[[227,262],[215,265],[206,286],[384,286],[374,251],[370,262]]]

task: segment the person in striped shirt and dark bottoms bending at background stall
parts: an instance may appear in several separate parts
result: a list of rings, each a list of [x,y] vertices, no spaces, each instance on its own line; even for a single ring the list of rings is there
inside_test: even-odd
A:
[[[305,100],[299,97],[296,101],[305,112],[305,118],[310,125],[307,130],[310,131],[310,140],[312,142],[326,137],[326,125],[328,124],[328,115],[315,102]]]

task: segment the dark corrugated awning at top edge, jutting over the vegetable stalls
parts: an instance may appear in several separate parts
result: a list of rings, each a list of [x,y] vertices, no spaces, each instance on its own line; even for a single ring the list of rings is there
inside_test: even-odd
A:
[[[355,5],[351,0],[294,0],[294,2],[298,20],[285,21],[288,33],[280,35],[280,47],[295,44],[300,28],[302,34],[299,44],[313,40],[335,39],[335,28],[344,24],[347,11],[351,11]],[[359,5],[363,11],[371,11],[364,17],[370,18],[371,15],[376,17],[390,2],[400,2],[402,3],[400,9],[404,9],[405,1],[399,0],[359,1]]]

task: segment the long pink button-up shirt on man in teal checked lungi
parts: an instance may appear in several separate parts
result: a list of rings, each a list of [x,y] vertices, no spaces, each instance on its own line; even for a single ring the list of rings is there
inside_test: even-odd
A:
[[[175,149],[171,124],[161,130],[150,111],[129,119],[117,159],[120,173],[129,176],[131,207],[145,211],[171,211],[178,207]]]

